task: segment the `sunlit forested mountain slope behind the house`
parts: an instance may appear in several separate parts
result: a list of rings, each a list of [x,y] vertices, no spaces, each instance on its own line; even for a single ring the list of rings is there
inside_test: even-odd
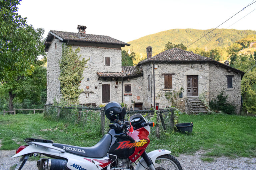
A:
[[[153,55],[158,54],[164,49],[164,45],[169,41],[174,44],[183,43],[185,46],[196,41],[200,37],[204,36],[212,29],[209,30],[195,30],[195,29],[173,29],[162,31],[156,34],[151,34],[137,40],[128,42],[130,46],[126,46],[123,49],[131,50],[137,54],[146,55],[146,47],[153,47]],[[188,50],[199,47],[204,49],[213,49],[217,46],[227,47],[242,39],[243,37],[256,34],[253,30],[235,30],[235,29],[216,29],[201,40],[195,42],[188,47]],[[222,32],[223,31],[223,32]]]

